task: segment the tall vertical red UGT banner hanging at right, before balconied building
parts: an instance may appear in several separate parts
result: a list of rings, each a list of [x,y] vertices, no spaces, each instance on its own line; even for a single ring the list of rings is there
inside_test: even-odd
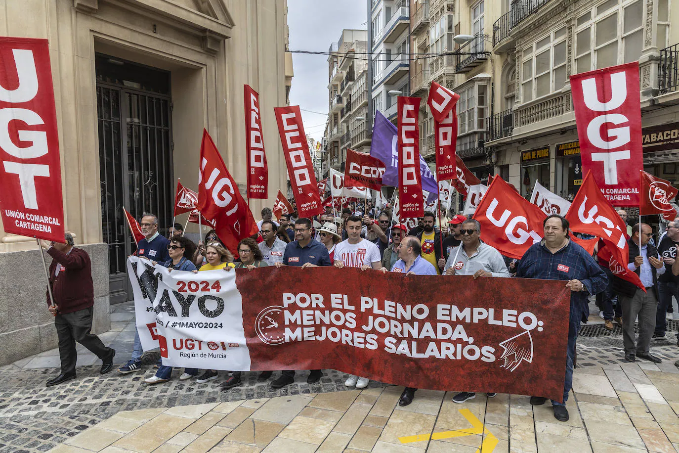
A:
[[[613,206],[639,206],[639,62],[570,76],[583,172]]]

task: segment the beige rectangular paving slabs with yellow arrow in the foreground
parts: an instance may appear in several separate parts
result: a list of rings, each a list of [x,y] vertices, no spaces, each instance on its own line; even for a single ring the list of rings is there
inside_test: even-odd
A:
[[[679,357],[679,355],[678,355]],[[663,365],[663,364],[661,364]],[[549,403],[483,394],[368,388],[120,412],[53,452],[659,452],[679,451],[679,369],[648,362],[578,369],[568,422]],[[479,433],[469,418],[483,423]],[[473,431],[473,430],[471,430]],[[441,434],[443,433],[443,434]],[[422,435],[403,443],[403,437]],[[455,437],[452,437],[455,436]]]

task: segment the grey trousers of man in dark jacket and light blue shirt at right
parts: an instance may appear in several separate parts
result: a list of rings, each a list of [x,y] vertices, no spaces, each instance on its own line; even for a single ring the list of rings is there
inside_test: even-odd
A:
[[[623,343],[625,354],[648,354],[650,337],[655,327],[655,312],[658,302],[655,300],[653,287],[646,288],[646,293],[637,289],[634,296],[619,295],[618,300],[623,304]],[[663,312],[663,316],[664,316]],[[634,341],[634,321],[639,316],[639,336]]]

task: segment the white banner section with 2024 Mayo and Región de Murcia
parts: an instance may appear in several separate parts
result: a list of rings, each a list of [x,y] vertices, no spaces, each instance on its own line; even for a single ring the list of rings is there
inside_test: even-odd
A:
[[[151,285],[143,280],[139,284],[135,267],[140,280],[148,278]],[[234,270],[170,272],[139,257],[130,257],[128,270],[144,350],[160,347],[163,365],[249,371],[242,297]],[[149,306],[151,294],[142,288],[151,286],[156,293]]]

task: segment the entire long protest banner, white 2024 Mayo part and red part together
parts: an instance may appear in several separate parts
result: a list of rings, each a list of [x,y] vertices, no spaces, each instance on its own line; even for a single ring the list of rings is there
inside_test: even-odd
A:
[[[164,365],[338,369],[418,388],[563,397],[570,291],[560,280],[332,266],[193,274],[139,257],[128,274],[139,338],[160,347]]]

